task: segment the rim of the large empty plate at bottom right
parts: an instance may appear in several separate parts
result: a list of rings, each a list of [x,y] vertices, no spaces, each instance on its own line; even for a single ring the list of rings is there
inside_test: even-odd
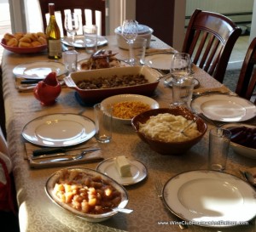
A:
[[[206,220],[199,220],[199,221],[196,221],[195,219],[193,220],[193,218],[191,219],[189,219],[189,218],[184,218],[183,217],[183,215],[180,215],[180,213],[178,213],[178,212],[175,212],[175,210],[173,210],[173,207],[170,207],[169,205],[168,205],[168,203],[166,202],[166,197],[165,197],[165,190],[166,190],[166,186],[167,186],[167,184],[169,184],[170,182],[172,182],[173,180],[175,180],[175,178],[179,178],[181,175],[188,175],[188,174],[190,174],[190,173],[207,173],[207,174],[209,174],[209,173],[216,173],[216,174],[218,174],[218,175],[224,175],[224,176],[229,176],[230,178],[233,178],[233,179],[235,179],[236,181],[238,181],[238,182],[241,182],[242,184],[245,184],[246,186],[247,186],[247,188],[248,188],[248,190],[252,190],[252,195],[253,195],[253,199],[255,200],[256,199],[256,192],[255,192],[255,190],[253,189],[253,187],[250,185],[250,184],[248,184],[246,181],[244,181],[244,180],[242,180],[241,178],[238,178],[238,177],[236,177],[235,175],[233,175],[233,174],[230,174],[230,173],[221,173],[221,172],[218,172],[218,171],[213,171],[213,170],[205,170],[205,169],[202,169],[202,170],[192,170],[192,171],[187,171],[187,172],[183,172],[183,173],[178,173],[177,175],[175,175],[175,176],[173,176],[172,178],[169,178],[167,181],[166,181],[166,183],[164,184],[164,187],[163,187],[163,190],[162,190],[162,198],[163,198],[163,201],[164,201],[164,203],[165,203],[165,206],[167,207],[167,209],[170,211],[170,212],[172,212],[174,215],[176,215],[178,218],[182,218],[184,221],[190,221],[190,222],[195,222],[195,224],[197,223],[197,225],[199,225],[199,226],[202,226],[202,227],[209,227],[209,228],[228,228],[228,227],[233,227],[233,226],[236,226],[236,224],[221,224],[221,225],[219,225],[219,224],[200,224],[200,222],[206,222]],[[196,179],[196,178],[194,178],[194,179]],[[223,180],[223,178],[220,178],[220,179],[222,179]],[[190,180],[190,179],[189,179]],[[186,183],[188,183],[189,182],[189,180],[187,179],[187,182]],[[174,188],[175,189],[175,188]],[[177,192],[178,192],[178,190],[177,190]],[[176,193],[177,193],[176,192]],[[177,197],[177,201],[178,201],[178,197]],[[176,202],[176,201],[175,201]],[[176,203],[175,203],[176,204]],[[174,204],[174,205],[175,205]],[[256,201],[255,201],[255,205],[256,205]],[[176,204],[176,207],[177,207],[177,204]],[[247,218],[247,219],[245,219],[244,220],[244,222],[246,222],[246,221],[249,221],[249,220],[251,220],[252,218],[254,218],[256,216],[256,212],[254,213],[254,215],[253,216],[251,216],[250,218]],[[199,217],[200,218],[200,217]],[[212,220],[213,221],[213,220]],[[230,219],[227,219],[227,221],[231,221]],[[209,221],[209,222],[211,222],[211,221]]]

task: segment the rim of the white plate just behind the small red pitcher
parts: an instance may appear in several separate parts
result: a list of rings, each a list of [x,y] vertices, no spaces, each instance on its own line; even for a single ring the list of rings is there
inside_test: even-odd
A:
[[[20,76],[20,77],[28,78],[28,79],[42,79],[42,76],[27,76],[24,73],[20,74],[20,72],[17,71],[18,69],[21,69],[22,66],[24,66],[24,69],[26,69],[26,65],[31,65],[33,63],[34,64],[37,64],[37,63],[53,63],[53,64],[58,64],[58,65],[63,67],[63,71],[61,73],[57,74],[57,76],[61,76],[61,75],[67,74],[67,69],[65,68],[64,63],[62,63],[61,61],[52,61],[52,60],[47,60],[47,59],[46,60],[31,61],[31,62],[22,63],[20,65],[16,65],[14,67],[14,69],[13,69],[13,74],[15,76]]]

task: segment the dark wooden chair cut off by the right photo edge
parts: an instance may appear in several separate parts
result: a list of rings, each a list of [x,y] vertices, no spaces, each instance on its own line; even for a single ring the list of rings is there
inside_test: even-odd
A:
[[[241,65],[241,71],[236,85],[236,93],[250,100],[256,87],[256,37],[247,48],[247,54]],[[256,97],[254,99],[256,105]]]

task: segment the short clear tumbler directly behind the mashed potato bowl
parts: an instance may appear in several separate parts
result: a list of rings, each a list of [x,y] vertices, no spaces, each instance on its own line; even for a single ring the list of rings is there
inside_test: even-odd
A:
[[[180,76],[172,79],[172,104],[171,107],[182,106],[190,109],[190,103],[194,90],[194,78],[192,76]]]

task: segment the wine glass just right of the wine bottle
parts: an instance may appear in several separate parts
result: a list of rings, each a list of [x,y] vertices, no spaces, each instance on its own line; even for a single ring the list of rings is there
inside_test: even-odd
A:
[[[74,37],[79,31],[79,15],[76,13],[67,13],[65,15],[65,29],[72,36],[72,44],[74,46]]]

